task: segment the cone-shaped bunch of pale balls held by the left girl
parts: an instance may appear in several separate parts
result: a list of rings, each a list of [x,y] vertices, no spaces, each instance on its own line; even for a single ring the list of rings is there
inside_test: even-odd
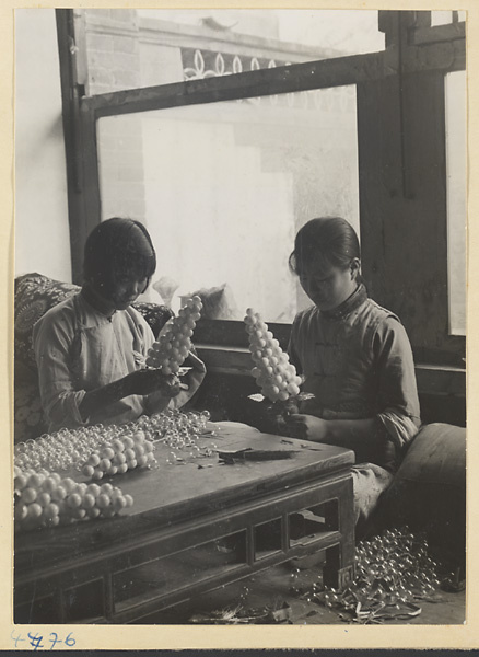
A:
[[[186,306],[178,312],[178,316],[165,324],[159,339],[148,351],[149,367],[159,368],[166,376],[177,373],[191,348],[190,337],[196,322],[200,319],[201,309],[201,299],[195,295],[188,299]]]

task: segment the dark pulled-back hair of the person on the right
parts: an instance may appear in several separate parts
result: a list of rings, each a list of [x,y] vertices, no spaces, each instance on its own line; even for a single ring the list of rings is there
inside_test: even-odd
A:
[[[351,261],[361,260],[361,249],[353,227],[341,217],[311,219],[297,231],[290,269],[301,275],[305,266],[324,263],[346,269]]]

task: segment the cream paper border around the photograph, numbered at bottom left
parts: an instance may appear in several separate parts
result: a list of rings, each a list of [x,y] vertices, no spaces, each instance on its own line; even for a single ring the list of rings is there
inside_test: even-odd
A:
[[[58,3],[43,2],[42,8],[59,8]],[[147,649],[474,649],[479,647],[479,609],[475,581],[479,576],[479,552],[477,521],[479,517],[478,483],[474,475],[474,464],[479,463],[479,447],[476,440],[479,399],[478,377],[479,349],[477,348],[476,306],[477,281],[479,266],[475,257],[478,246],[479,210],[479,3],[476,0],[458,2],[424,2],[422,0],[404,0],[400,3],[383,1],[343,1],[327,2],[89,2],[68,3],[61,8],[150,8],[150,9],[198,9],[198,8],[241,8],[241,9],[385,9],[385,10],[465,10],[467,11],[467,77],[468,77],[468,301],[467,301],[467,596],[466,622],[464,625],[392,625],[392,626],[354,626],[338,625],[304,625],[304,626],[272,626],[249,625],[238,626],[174,626],[174,625],[61,625],[61,632],[73,632],[75,636],[74,650],[147,650]],[[1,351],[1,365],[4,371],[2,380],[3,436],[9,440],[1,461],[2,476],[2,550],[0,566],[4,573],[2,578],[3,600],[9,604],[0,607],[0,648],[16,650],[12,643],[12,632],[19,629],[12,622],[13,611],[13,527],[12,527],[12,462],[13,462],[13,278],[14,278],[14,10],[15,8],[38,8],[37,3],[27,0],[7,0],[0,8],[0,193],[3,218],[0,223],[1,275],[7,285],[2,295],[3,312],[0,315],[1,330],[4,335]],[[40,9],[40,8],[38,8]],[[34,54],[32,54],[34,56]],[[9,575],[7,575],[9,574]],[[23,626],[22,626],[23,627]],[[55,632],[54,625],[31,625],[32,633],[45,631]],[[23,646],[22,646],[23,647]]]

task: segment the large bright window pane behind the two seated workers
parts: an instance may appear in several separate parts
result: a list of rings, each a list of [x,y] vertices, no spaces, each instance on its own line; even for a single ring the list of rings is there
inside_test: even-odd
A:
[[[98,152],[102,218],[145,222],[174,309],[225,286],[214,316],[290,322],[307,303],[288,268],[296,230],[359,224],[353,87],[105,117]]]

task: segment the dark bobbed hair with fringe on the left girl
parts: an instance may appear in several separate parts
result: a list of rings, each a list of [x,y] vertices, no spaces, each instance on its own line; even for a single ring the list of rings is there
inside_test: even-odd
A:
[[[98,223],[86,239],[83,277],[105,296],[112,293],[117,279],[125,275],[145,278],[147,289],[155,269],[156,253],[140,221],[113,217]]]

